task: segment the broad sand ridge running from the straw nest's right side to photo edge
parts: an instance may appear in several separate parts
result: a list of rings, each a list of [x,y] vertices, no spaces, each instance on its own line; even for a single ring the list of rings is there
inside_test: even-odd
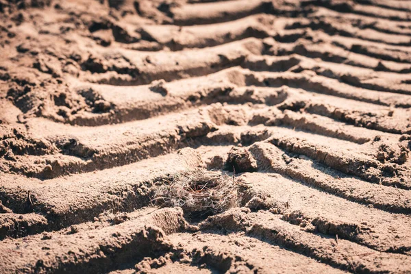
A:
[[[278,166],[275,163],[273,165]],[[286,169],[292,168],[284,167]],[[295,173],[297,172],[299,171],[296,169]],[[313,180],[323,182],[326,177],[325,174],[318,178],[312,176]],[[306,232],[326,234],[334,238],[337,235],[338,239],[357,242],[378,251],[411,255],[407,229],[411,221],[409,216],[390,214],[347,201],[279,174],[244,173],[238,179],[246,189],[242,203],[251,210],[265,209],[282,214],[284,221],[299,225]],[[349,178],[342,179],[340,185],[345,184]],[[345,186],[349,187],[350,184]],[[366,188],[373,192],[372,188]],[[353,192],[362,189],[364,193],[366,188],[362,184],[362,188],[356,187]],[[382,199],[386,198],[383,193],[379,192]],[[393,227],[399,229],[393,233]]]

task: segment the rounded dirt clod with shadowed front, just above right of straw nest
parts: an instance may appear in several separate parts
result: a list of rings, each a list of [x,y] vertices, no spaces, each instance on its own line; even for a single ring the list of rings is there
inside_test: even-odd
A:
[[[235,170],[237,173],[253,172],[257,170],[257,162],[247,149],[233,147],[228,153],[225,168],[228,171]]]

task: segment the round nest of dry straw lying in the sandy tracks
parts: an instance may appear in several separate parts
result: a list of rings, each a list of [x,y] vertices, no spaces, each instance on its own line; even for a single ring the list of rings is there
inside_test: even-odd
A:
[[[216,214],[237,206],[234,177],[197,169],[171,175],[155,190],[158,206],[181,207],[186,214]]]

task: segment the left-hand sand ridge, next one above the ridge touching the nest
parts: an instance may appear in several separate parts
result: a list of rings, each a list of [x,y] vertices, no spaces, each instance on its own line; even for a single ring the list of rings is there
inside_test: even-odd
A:
[[[36,128],[34,138],[48,140],[47,147],[57,153],[16,155],[17,161],[2,162],[3,170],[45,179],[108,169],[175,151],[215,130],[207,112],[199,110],[164,118],[88,129],[32,119],[27,125]]]

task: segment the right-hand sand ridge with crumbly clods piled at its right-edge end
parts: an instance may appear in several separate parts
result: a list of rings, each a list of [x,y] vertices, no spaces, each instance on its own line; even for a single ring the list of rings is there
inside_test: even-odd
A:
[[[366,182],[410,189],[408,156],[406,150],[401,149],[408,140],[390,140],[379,136],[372,142],[358,145],[355,142],[308,132],[298,132],[296,135],[294,130],[284,127],[271,127],[266,131],[265,138],[288,153],[305,155],[320,164],[346,175],[355,175]],[[388,151],[393,153],[388,155]]]

